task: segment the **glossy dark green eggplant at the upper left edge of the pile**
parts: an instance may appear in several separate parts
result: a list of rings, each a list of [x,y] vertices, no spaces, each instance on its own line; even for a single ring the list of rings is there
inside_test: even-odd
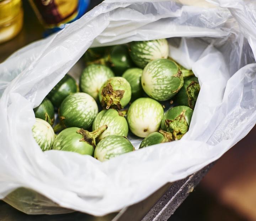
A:
[[[78,92],[78,85],[75,79],[66,74],[55,87],[49,92],[47,98],[52,102],[53,106],[59,108],[62,101],[69,96]]]

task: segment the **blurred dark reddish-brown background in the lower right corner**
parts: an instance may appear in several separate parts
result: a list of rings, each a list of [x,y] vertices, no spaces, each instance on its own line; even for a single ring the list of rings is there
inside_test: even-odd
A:
[[[256,127],[226,152],[169,221],[256,220]]]

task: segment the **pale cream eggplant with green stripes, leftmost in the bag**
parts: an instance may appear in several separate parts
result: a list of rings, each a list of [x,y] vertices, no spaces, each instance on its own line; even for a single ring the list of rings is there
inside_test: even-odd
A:
[[[47,121],[36,118],[36,123],[32,127],[32,134],[42,151],[52,149],[55,134]]]

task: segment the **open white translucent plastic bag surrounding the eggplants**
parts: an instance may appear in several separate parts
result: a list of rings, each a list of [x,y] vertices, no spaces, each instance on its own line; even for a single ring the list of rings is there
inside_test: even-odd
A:
[[[22,192],[6,202],[27,213],[68,211],[62,206],[104,215],[198,171],[241,140],[256,123],[256,3],[208,2],[213,7],[107,0],[1,63],[0,198],[25,187],[50,200]],[[33,108],[90,46],[160,38],[168,38],[170,56],[191,68],[201,85],[190,129],[180,141],[104,163],[41,151],[31,131]]]

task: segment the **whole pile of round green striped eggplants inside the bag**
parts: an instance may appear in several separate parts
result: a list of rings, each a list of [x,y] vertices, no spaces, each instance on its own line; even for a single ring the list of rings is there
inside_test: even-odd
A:
[[[144,138],[139,148],[179,140],[189,129],[200,86],[168,55],[166,39],[87,50],[79,86],[66,74],[34,109],[38,145],[105,161],[135,150],[129,132]],[[174,107],[164,113],[166,101]]]

